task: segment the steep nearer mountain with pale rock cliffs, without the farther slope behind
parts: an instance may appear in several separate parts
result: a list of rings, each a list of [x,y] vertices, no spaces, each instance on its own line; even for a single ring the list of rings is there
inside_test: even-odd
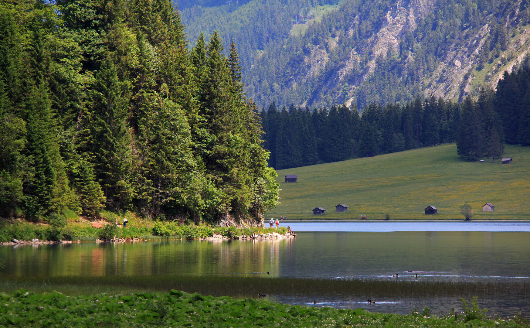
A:
[[[476,97],[524,60],[529,16],[520,0],[347,0],[256,50],[246,92],[264,107]]]

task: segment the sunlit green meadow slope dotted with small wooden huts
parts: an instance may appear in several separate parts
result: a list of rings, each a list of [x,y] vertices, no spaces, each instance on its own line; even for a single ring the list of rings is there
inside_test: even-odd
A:
[[[468,162],[456,155],[456,145],[357,158],[278,171],[278,208],[268,216],[288,219],[463,219],[459,207],[469,202],[474,219],[530,219],[530,147],[506,145],[513,163]],[[297,183],[285,183],[297,174]],[[482,212],[484,203],[494,212]],[[336,213],[345,203],[348,212]],[[425,215],[429,205],[438,214]],[[313,216],[323,207],[326,214]]]

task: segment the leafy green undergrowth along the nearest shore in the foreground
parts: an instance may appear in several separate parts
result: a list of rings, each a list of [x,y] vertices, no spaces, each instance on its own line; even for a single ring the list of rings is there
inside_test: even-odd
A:
[[[290,306],[252,298],[202,296],[197,292],[66,296],[17,290],[1,294],[0,327],[527,327],[523,317],[431,316],[425,308],[409,315],[371,313],[362,308]],[[471,310],[470,310],[471,311]]]

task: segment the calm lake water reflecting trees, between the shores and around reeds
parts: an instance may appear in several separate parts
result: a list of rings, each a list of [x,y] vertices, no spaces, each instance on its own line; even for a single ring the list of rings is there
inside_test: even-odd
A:
[[[272,241],[3,246],[0,259],[5,265],[0,274],[36,277],[243,274],[329,279],[530,281],[528,222],[287,221],[282,225],[289,225],[298,237]],[[326,230],[334,232],[323,232]],[[392,277],[396,273],[399,277]],[[313,301],[292,294],[271,299],[290,304]],[[458,305],[456,299],[431,297],[386,299],[380,296],[375,305],[363,303],[365,300],[329,295],[318,302],[399,313],[425,306],[444,312]],[[494,309],[499,313],[507,308],[530,307],[527,299],[491,298],[482,300],[481,304],[487,305],[490,312]]]

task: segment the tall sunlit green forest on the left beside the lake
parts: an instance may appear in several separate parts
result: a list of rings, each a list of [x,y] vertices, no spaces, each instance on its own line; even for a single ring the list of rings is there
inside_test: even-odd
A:
[[[277,205],[240,59],[170,0],[0,4],[0,211],[260,218]]]

